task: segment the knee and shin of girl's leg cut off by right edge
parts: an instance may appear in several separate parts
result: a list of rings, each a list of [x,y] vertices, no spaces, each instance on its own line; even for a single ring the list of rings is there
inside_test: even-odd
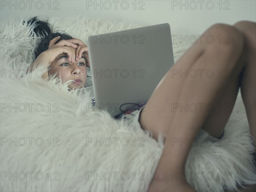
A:
[[[250,133],[256,140],[256,23],[240,21],[234,26],[244,35],[246,67],[241,74],[241,95],[249,121]],[[255,192],[255,190],[256,184],[239,189],[240,192]]]

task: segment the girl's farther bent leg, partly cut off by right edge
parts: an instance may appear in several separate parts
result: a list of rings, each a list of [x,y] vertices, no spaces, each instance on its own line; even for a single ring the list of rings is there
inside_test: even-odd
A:
[[[239,65],[244,66],[244,68],[242,71],[238,69],[236,70],[237,73],[232,74],[223,95],[220,97],[220,104],[216,103],[218,108],[209,114],[202,129],[214,136],[214,130],[225,126],[236,101],[239,86],[241,86],[241,95],[247,113],[250,133],[256,140],[256,23],[240,21],[234,26],[244,36],[244,49],[238,61],[240,62]],[[221,106],[222,111],[220,111]],[[224,106],[225,108],[223,108]],[[256,185],[245,187],[239,186],[241,191],[249,192],[255,191]]]

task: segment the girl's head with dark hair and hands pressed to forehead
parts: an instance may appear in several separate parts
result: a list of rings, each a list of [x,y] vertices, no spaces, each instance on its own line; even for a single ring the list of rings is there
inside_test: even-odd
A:
[[[35,50],[36,59],[27,71],[41,65],[48,69],[42,76],[44,79],[59,78],[62,83],[73,80],[68,85],[69,89],[85,87],[87,67],[90,67],[87,46],[70,35],[51,33],[48,23],[37,20],[37,17],[29,20],[29,25],[32,23],[37,25],[34,31],[38,35],[45,35],[44,31],[49,35],[38,45]]]

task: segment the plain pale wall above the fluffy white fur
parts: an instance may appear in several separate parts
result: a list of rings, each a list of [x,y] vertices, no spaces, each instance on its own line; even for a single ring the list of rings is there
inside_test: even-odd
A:
[[[15,17],[47,15],[90,18],[153,25],[169,23],[175,32],[201,35],[214,23],[233,25],[256,21],[255,0],[1,0],[0,21]],[[98,5],[98,6],[96,6]]]

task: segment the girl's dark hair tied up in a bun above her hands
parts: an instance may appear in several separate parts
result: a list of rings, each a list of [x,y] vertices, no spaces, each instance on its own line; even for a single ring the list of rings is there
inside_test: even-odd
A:
[[[25,21],[23,21],[23,23],[25,23]],[[49,23],[39,20],[37,17],[33,17],[32,19],[28,20],[28,22],[26,23],[27,26],[30,25],[34,25],[35,27],[33,29],[33,31],[35,32],[35,34],[39,37],[39,36],[43,36],[44,38],[41,40],[41,42],[38,44],[38,47],[35,49],[35,59],[38,57],[38,55],[40,55],[42,52],[46,51],[47,49],[49,49],[49,42],[58,36],[61,36],[61,38],[56,42],[58,43],[61,40],[68,40],[68,39],[72,39],[72,36],[66,34],[66,33],[52,33],[52,30],[49,26]]]

